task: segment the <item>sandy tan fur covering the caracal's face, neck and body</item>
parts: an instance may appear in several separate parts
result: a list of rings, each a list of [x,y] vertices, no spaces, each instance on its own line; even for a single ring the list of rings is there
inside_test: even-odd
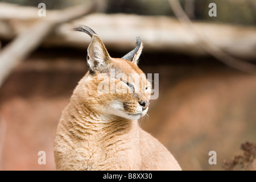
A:
[[[146,76],[134,62],[110,57],[101,40],[98,37],[95,40],[98,40],[97,46],[92,46],[92,42],[88,52],[96,56],[106,55],[107,58],[94,62],[101,57],[93,60],[95,55],[90,55],[88,63],[90,61],[94,72],[86,73],[79,81],[68,106],[63,110],[55,138],[56,169],[181,170],[174,156],[157,139],[143,131],[134,119],[147,111],[139,116],[133,115],[140,109],[139,101],[150,99]],[[103,46],[98,49],[101,44]],[[104,52],[97,54],[97,51]],[[137,60],[134,61],[137,63]],[[125,84],[129,80],[110,78],[111,70],[115,71],[115,76],[122,73],[128,78],[129,73],[137,73],[133,77],[138,78],[140,75],[141,81],[133,85],[137,92],[119,92],[131,89]],[[108,78],[106,82],[109,85],[111,81],[119,84],[114,93],[98,92],[98,85],[105,78]],[[143,84],[149,87],[146,92]],[[120,103],[125,113],[123,116],[115,110]]]

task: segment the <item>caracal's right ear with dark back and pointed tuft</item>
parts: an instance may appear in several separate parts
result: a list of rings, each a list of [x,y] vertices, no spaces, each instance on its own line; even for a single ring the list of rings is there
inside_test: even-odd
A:
[[[125,56],[122,57],[122,59],[132,61],[134,64],[138,64],[139,56],[141,56],[142,53],[143,44],[141,42],[141,38],[137,36],[137,46],[133,51],[127,53]]]

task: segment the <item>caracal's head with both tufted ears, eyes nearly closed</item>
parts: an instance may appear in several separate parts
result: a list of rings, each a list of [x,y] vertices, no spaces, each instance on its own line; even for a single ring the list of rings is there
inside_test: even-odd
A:
[[[90,105],[90,110],[104,117],[139,119],[148,110],[151,84],[138,67],[143,44],[122,58],[109,56],[102,40],[87,26],[73,28],[92,37],[88,46],[89,71],[80,80],[76,94]]]

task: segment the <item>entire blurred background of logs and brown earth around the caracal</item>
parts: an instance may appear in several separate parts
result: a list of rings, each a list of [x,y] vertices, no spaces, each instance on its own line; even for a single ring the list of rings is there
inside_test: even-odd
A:
[[[56,126],[88,71],[90,37],[69,31],[77,24],[96,31],[112,57],[141,37],[139,67],[159,74],[159,97],[141,127],[183,170],[224,170],[225,160],[243,154],[242,143],[256,142],[256,1],[6,0],[0,1],[1,170],[55,170]],[[38,164],[39,151],[46,164]],[[217,164],[208,163],[210,151]]]

